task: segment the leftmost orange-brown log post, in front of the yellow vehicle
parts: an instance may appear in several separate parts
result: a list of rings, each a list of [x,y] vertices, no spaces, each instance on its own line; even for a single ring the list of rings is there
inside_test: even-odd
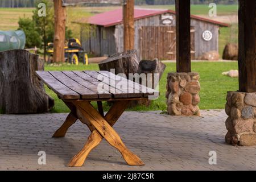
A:
[[[66,9],[61,0],[54,1],[54,43],[53,61],[64,62]]]

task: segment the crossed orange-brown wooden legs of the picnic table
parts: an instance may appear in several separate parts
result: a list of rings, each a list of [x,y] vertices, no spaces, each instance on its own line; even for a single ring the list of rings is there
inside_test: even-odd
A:
[[[69,162],[69,167],[82,166],[89,152],[98,146],[103,138],[121,152],[123,159],[125,159],[127,164],[138,166],[144,165],[137,155],[128,150],[112,127],[123,111],[125,111],[128,103],[129,101],[116,101],[105,117],[102,117],[102,115],[88,101],[77,101],[72,102],[72,104],[69,102],[68,104],[66,103],[71,109],[71,113],[69,113],[66,121],[60,129],[55,132],[53,137],[64,137],[68,127],[75,123],[77,119],[80,119],[80,121],[85,123],[92,131],[85,146],[77,155],[73,156],[71,162]],[[74,113],[75,108],[77,111],[76,114]]]

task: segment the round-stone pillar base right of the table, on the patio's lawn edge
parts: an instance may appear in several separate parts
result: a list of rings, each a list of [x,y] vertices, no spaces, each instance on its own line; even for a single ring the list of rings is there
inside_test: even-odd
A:
[[[167,113],[200,115],[199,73],[168,73],[166,85]]]

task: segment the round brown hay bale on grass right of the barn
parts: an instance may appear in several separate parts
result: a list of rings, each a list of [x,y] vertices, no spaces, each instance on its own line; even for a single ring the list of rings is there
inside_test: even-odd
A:
[[[226,44],[222,59],[224,60],[238,60],[238,45],[237,44]]]

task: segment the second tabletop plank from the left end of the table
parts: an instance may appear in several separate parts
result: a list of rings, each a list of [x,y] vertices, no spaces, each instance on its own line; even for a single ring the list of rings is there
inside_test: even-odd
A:
[[[80,85],[75,80],[72,80],[63,72],[60,71],[49,71],[49,73],[59,80],[62,84],[66,85],[69,89],[74,90],[75,92],[80,94],[81,98],[98,98],[98,94],[89,90],[85,86]]]

